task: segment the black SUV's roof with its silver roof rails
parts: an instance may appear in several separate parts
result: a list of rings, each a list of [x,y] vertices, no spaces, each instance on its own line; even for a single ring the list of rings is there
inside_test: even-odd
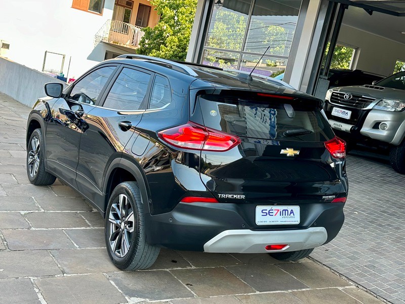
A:
[[[295,90],[284,83],[275,84],[272,79],[261,75],[252,75],[252,80],[246,79],[247,72],[222,69],[214,66],[179,62],[143,55],[121,55],[108,62],[116,62],[143,67],[157,73],[188,80],[190,89],[231,89],[244,91],[272,92],[276,94],[289,94],[307,99],[316,99],[306,93]],[[104,61],[106,62],[106,61]],[[241,77],[245,74],[245,77]]]

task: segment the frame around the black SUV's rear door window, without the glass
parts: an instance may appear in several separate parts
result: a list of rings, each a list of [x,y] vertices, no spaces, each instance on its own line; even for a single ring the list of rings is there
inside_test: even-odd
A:
[[[115,84],[115,81],[118,79],[119,74],[121,73],[121,71],[123,71],[124,68],[130,68],[133,70],[137,70],[146,74],[150,75],[150,79],[149,79],[149,83],[148,83],[148,87],[146,89],[146,94],[145,97],[143,98],[140,106],[138,109],[136,110],[123,110],[123,109],[114,109],[114,108],[109,108],[109,107],[105,107],[104,103],[107,99],[108,94],[110,93],[112,86]],[[98,107],[103,108],[103,109],[107,109],[107,110],[112,110],[112,111],[117,111],[120,113],[133,113],[133,112],[144,112],[145,110],[147,110],[148,106],[149,106],[149,99],[150,99],[150,92],[151,92],[151,87],[154,81],[154,75],[155,72],[147,70],[147,69],[143,69],[137,66],[133,66],[133,65],[127,65],[127,64],[121,64],[115,71],[114,73],[114,77],[109,81],[108,86],[105,87],[104,93],[100,98],[100,102],[97,104]],[[98,100],[97,100],[98,101]]]

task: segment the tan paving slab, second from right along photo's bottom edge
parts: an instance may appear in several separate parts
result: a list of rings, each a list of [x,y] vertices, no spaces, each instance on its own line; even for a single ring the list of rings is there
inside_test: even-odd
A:
[[[304,303],[311,304],[361,304],[355,298],[337,288],[312,289],[293,291],[293,295],[298,297]],[[366,303],[363,303],[366,304]]]

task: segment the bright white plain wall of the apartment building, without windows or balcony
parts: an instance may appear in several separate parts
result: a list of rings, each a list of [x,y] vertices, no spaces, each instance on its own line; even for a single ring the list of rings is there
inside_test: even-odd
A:
[[[105,0],[102,16],[71,6],[72,0],[0,0],[0,40],[10,43],[8,58],[42,70],[45,51],[65,54],[65,76],[71,56],[68,78],[77,78],[104,60],[106,50],[126,53],[104,43],[94,48],[114,0]]]

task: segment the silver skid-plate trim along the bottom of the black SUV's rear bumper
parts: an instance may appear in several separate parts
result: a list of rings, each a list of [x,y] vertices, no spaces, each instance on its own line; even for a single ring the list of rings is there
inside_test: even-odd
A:
[[[324,227],[289,231],[226,230],[204,244],[205,252],[266,253],[315,248],[326,242]],[[267,245],[287,244],[281,250],[265,249]]]

